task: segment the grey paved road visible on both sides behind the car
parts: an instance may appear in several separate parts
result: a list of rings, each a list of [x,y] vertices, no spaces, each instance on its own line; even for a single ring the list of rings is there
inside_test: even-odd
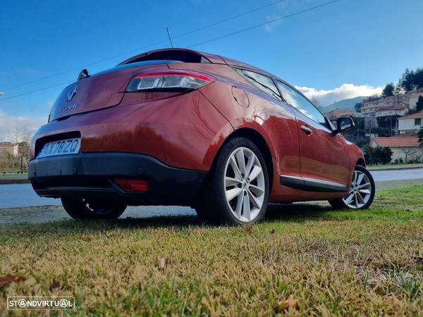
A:
[[[413,180],[423,178],[423,168],[374,170],[372,175],[376,182]],[[30,184],[0,185],[0,209],[29,206],[61,206],[61,202],[60,199],[38,197]]]

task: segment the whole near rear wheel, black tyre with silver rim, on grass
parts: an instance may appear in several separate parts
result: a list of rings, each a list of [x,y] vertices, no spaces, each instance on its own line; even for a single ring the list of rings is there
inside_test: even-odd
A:
[[[262,220],[269,201],[269,175],[257,146],[243,137],[220,149],[195,209],[207,223],[250,225]]]

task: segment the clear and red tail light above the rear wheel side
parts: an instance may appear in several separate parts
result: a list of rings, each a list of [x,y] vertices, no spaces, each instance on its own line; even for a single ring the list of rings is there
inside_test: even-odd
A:
[[[195,90],[213,82],[212,77],[187,70],[157,70],[135,75],[127,92]]]

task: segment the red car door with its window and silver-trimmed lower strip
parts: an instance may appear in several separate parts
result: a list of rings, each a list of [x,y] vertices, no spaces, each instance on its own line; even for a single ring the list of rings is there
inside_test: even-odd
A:
[[[279,80],[276,85],[297,117],[302,177],[293,180],[281,175],[281,183],[302,186],[306,192],[345,192],[350,184],[345,139],[332,133],[329,120],[300,92]]]

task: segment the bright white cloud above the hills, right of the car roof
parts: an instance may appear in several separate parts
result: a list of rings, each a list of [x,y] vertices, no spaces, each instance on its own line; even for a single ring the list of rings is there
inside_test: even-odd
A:
[[[317,90],[312,87],[298,87],[300,92],[305,94],[309,99],[315,98],[319,101],[321,106],[328,106],[333,102],[343,99],[350,99],[355,97],[368,97],[374,94],[381,94],[384,87],[373,87],[367,85],[343,84],[332,90]]]

